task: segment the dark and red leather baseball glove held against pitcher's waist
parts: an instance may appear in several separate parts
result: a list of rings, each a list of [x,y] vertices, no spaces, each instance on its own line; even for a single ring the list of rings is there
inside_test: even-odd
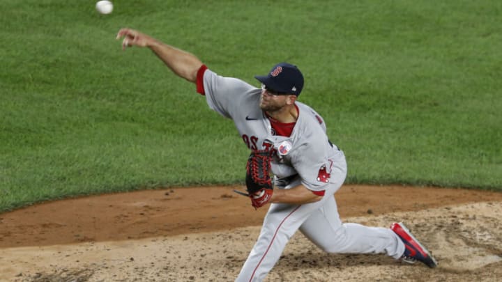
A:
[[[272,198],[273,185],[270,176],[270,152],[259,150],[251,152],[246,163],[246,187],[248,194],[234,190],[236,193],[248,196],[254,208],[263,207]]]

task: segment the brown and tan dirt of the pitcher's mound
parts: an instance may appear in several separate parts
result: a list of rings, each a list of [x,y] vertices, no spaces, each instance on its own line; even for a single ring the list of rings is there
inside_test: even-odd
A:
[[[266,207],[242,187],[193,187],[73,198],[0,214],[0,281],[234,281]],[[344,185],[345,222],[404,221],[439,262],[320,251],[301,233],[266,281],[500,281],[502,193]]]

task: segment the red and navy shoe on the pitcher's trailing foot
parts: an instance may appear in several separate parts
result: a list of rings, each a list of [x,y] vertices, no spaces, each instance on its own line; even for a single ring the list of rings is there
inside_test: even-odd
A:
[[[406,247],[401,259],[406,263],[415,263],[417,260],[425,263],[430,268],[437,266],[436,260],[431,256],[425,246],[420,244],[402,222],[395,222],[390,226],[390,229],[397,234]]]

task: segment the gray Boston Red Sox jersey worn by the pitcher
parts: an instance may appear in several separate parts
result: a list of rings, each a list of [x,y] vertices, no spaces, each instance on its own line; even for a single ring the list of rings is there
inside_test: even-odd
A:
[[[261,89],[241,79],[204,72],[204,93],[208,106],[231,118],[244,143],[251,150],[275,150],[271,163],[275,184],[292,187],[289,181],[277,181],[298,174],[301,183],[312,191],[322,191],[330,182],[330,173],[343,157],[326,135],[324,120],[301,102],[298,120],[291,136],[275,136],[271,123],[259,107]],[[298,178],[291,177],[298,185]],[[282,183],[282,184],[281,184]]]

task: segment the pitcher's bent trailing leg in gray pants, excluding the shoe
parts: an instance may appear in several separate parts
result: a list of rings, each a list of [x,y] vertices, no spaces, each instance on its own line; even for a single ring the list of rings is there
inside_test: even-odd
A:
[[[404,251],[400,238],[388,228],[342,224],[335,198],[312,213],[300,230],[328,253],[386,253],[397,259]]]

